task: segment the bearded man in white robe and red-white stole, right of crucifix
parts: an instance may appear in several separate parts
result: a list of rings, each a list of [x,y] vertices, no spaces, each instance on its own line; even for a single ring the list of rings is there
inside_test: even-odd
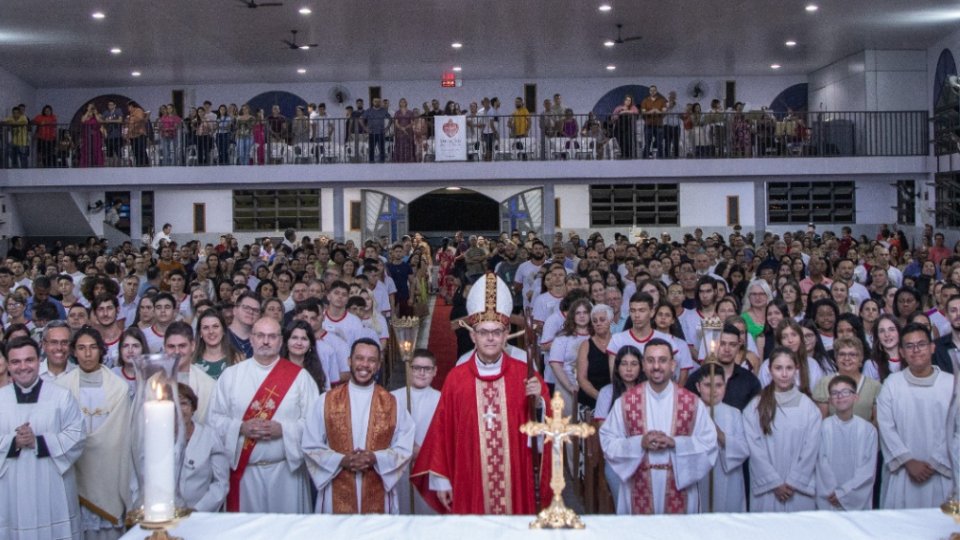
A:
[[[697,483],[717,461],[717,430],[696,394],[674,384],[673,344],[647,342],[647,381],[614,402],[600,428],[603,455],[623,483],[618,514],[697,513]]]

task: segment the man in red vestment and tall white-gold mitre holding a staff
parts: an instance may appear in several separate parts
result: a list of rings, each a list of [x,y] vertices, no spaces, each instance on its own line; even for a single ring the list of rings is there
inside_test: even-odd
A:
[[[441,514],[535,514],[530,445],[539,441],[520,433],[520,426],[531,419],[527,396],[539,396],[544,410],[547,387],[503,352],[513,301],[502,280],[493,273],[477,280],[467,311],[477,350],[447,376],[410,481]],[[547,443],[543,501],[551,498],[550,451]]]

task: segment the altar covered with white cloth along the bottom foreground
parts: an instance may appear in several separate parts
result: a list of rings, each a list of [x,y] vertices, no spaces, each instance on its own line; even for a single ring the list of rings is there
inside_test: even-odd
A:
[[[531,540],[630,538],[664,540],[940,540],[960,526],[940,509],[692,516],[581,516],[581,531],[530,530],[533,516],[383,516],[194,514],[169,531],[183,540]],[[122,540],[144,540],[131,529]]]

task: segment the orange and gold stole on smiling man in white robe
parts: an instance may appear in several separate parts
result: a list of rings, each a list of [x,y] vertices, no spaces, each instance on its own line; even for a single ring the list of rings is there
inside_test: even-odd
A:
[[[344,384],[325,394],[323,422],[327,428],[327,442],[340,454],[353,452],[353,423],[350,417],[350,389]],[[370,421],[367,425],[367,443],[370,452],[390,447],[397,428],[397,400],[383,387],[374,386],[370,403]],[[373,469],[363,473],[361,502],[357,508],[357,480],[353,471],[342,470],[333,479],[334,514],[383,514],[386,492],[380,475]]]

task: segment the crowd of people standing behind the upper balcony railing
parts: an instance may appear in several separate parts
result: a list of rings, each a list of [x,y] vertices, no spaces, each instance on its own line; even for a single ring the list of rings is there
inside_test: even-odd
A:
[[[639,98],[639,96],[638,96]],[[461,106],[433,99],[410,107],[400,98],[396,108],[375,98],[369,108],[357,99],[342,113],[327,104],[296,107],[287,117],[280,107],[206,101],[178,111],[161,104],[145,111],[136,101],[108,101],[98,110],[88,103],[78,125],[58,123],[45,105],[30,118],[26,105],[13,107],[2,125],[3,166],[116,167],[172,165],[252,165],[345,161],[366,157],[371,163],[422,162],[434,152],[434,117],[466,116],[471,159],[498,155],[523,159],[636,159],[637,157],[748,157],[801,155],[810,130],[802,114],[775,115],[766,107],[744,111],[743,103],[726,109],[719,99],[703,112],[699,103],[680,105],[676,92],[624,102],[603,114],[576,115],[560,94],[543,101],[533,114],[523,98],[514,109],[501,109],[500,98],[483,98]],[[338,106],[339,107],[339,106]],[[180,115],[184,114],[183,117]],[[337,116],[334,116],[336,114]],[[34,159],[31,161],[31,148]]]

